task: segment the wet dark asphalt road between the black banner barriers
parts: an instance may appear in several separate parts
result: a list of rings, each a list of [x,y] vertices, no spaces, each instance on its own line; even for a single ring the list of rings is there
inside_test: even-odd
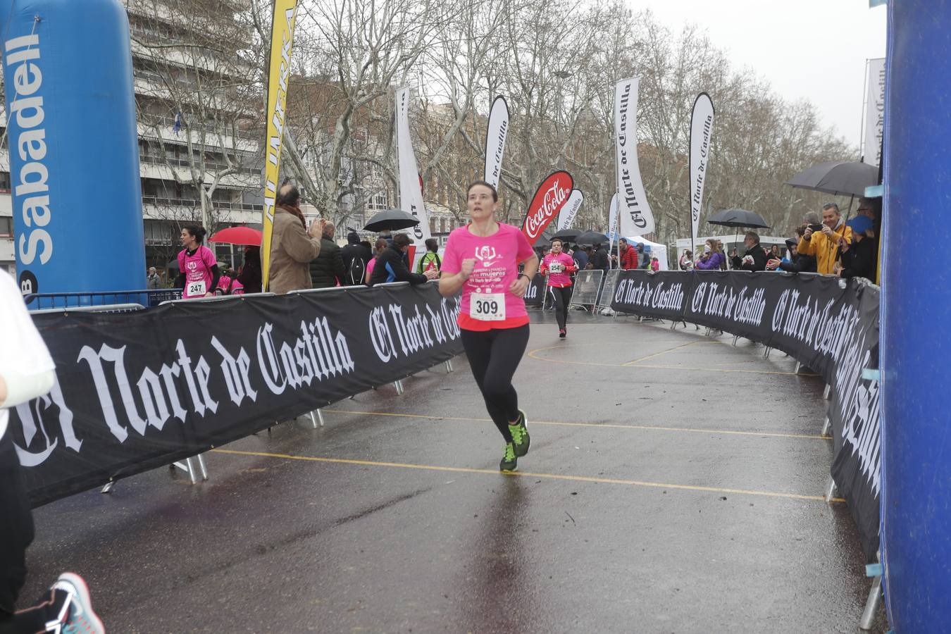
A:
[[[821,380],[573,318],[533,326],[515,377],[520,475],[461,356],[209,452],[202,485],[159,469],[37,509],[24,594],[75,569],[113,632],[859,631]]]

